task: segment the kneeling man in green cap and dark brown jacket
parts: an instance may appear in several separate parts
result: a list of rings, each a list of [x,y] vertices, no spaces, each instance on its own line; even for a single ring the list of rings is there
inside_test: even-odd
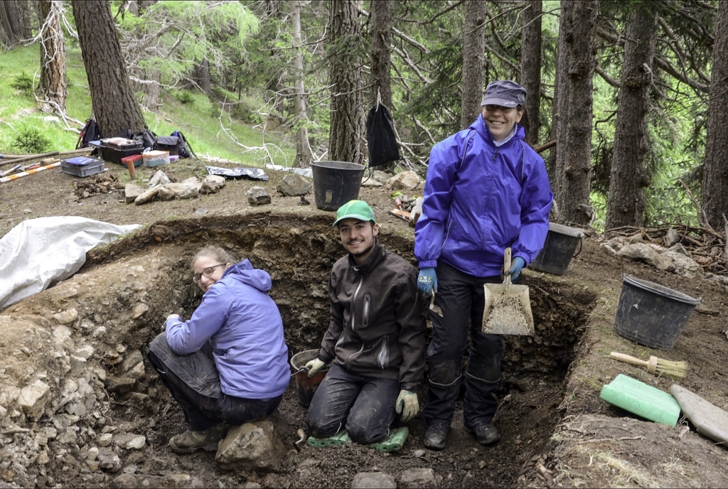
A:
[[[323,445],[342,440],[383,444],[406,428],[389,426],[419,411],[415,389],[424,376],[425,320],[417,271],[384,249],[379,224],[362,200],[339,207],[339,228],[347,255],[331,270],[331,322],[317,358],[306,363],[309,377],[331,370],[317,389],[306,416],[309,434]],[[309,439],[309,444],[312,440]],[[379,448],[374,445],[375,448]],[[390,445],[381,450],[392,450]]]

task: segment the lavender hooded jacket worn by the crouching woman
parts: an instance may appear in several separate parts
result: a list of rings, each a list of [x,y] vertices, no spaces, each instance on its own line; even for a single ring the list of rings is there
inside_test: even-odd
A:
[[[243,260],[210,287],[189,321],[167,319],[167,344],[186,355],[210,340],[221,390],[245,399],[270,399],[288,387],[288,346],[278,307],[266,292],[268,272]]]

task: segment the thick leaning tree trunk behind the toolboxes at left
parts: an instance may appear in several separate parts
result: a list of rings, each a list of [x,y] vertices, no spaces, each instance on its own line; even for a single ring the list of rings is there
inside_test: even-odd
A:
[[[108,1],[74,0],[71,5],[79,31],[91,105],[101,134],[109,138],[124,129],[142,132],[146,124],[131,89]]]

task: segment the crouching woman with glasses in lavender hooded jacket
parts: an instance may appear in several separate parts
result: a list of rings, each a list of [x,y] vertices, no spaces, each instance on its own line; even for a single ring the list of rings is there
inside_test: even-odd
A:
[[[192,269],[202,302],[188,321],[167,317],[147,353],[189,424],[170,439],[177,453],[217,450],[225,425],[271,414],[290,381],[270,275],[217,247],[199,250]]]

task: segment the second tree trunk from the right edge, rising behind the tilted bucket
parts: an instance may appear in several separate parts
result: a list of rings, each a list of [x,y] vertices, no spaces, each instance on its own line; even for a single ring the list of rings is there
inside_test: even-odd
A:
[[[644,225],[644,188],[648,151],[647,113],[657,21],[649,2],[635,7],[625,38],[622,87],[614,127],[605,228]]]

